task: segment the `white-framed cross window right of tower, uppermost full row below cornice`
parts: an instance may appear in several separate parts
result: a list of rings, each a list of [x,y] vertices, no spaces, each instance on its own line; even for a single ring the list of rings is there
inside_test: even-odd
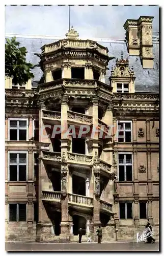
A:
[[[131,121],[118,122],[118,142],[131,142]]]

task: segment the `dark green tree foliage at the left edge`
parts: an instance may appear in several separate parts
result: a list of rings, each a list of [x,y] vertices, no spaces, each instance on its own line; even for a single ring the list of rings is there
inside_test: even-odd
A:
[[[20,43],[16,41],[16,37],[6,38],[5,44],[5,74],[13,76],[14,84],[24,84],[34,75],[31,70],[34,66],[26,62],[25,47],[19,47]]]

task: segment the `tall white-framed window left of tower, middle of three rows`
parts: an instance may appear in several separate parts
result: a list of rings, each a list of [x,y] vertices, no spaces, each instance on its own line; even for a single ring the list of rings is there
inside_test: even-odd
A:
[[[26,181],[26,152],[9,154],[10,181]]]

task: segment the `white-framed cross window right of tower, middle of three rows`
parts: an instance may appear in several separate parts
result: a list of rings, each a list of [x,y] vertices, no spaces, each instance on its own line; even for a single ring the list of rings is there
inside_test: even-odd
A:
[[[132,154],[119,154],[119,181],[132,180]]]

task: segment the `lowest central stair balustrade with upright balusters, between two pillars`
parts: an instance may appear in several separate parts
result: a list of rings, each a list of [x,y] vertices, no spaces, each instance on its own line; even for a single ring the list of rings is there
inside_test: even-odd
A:
[[[75,195],[75,194],[68,194],[68,200],[69,200],[69,203],[93,206],[93,198],[91,198],[91,197]]]

